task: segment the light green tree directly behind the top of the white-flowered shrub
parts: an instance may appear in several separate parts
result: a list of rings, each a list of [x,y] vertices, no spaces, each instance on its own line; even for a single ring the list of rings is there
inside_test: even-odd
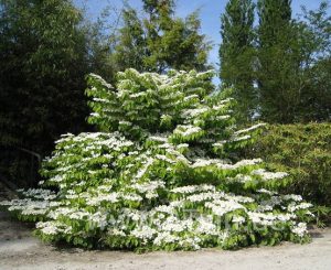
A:
[[[169,68],[207,68],[210,44],[199,33],[197,13],[174,17],[174,1],[143,0],[140,18],[129,6],[124,10],[124,26],[115,50],[119,69],[135,67],[140,72],[163,73]]]

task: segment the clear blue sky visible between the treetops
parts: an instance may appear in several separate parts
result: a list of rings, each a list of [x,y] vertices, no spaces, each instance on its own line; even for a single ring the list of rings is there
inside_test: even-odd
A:
[[[121,0],[74,0],[74,2],[82,6],[86,4],[86,8],[92,18],[96,18],[97,14],[107,4],[113,4],[117,8],[121,7]],[[141,9],[140,0],[128,0],[129,4],[134,8]],[[301,11],[301,6],[306,6],[308,10],[317,9],[322,0],[292,0],[292,15],[293,18]],[[185,17],[189,13],[200,10],[200,19],[202,23],[201,33],[207,36],[207,40],[214,45],[210,52],[210,62],[217,67],[218,63],[218,46],[221,43],[220,35],[220,17],[224,11],[227,0],[177,0],[177,15]]]

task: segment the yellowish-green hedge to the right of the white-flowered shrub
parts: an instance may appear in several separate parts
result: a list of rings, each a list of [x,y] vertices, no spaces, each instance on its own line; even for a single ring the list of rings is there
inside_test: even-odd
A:
[[[268,126],[254,154],[292,175],[287,192],[331,206],[330,123]]]

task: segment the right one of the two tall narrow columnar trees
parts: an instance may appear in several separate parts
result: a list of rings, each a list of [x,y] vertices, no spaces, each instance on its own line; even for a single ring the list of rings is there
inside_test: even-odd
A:
[[[292,122],[300,104],[298,32],[291,0],[259,0],[258,86],[260,114],[269,122]]]

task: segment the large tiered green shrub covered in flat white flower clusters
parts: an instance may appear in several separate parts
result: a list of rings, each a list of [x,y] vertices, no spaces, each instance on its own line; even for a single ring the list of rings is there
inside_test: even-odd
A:
[[[287,174],[236,150],[261,123],[236,130],[232,99],[213,91],[212,72],[118,74],[117,89],[88,77],[100,132],[64,134],[41,171],[41,188],[2,202],[36,223],[49,241],[147,250],[225,249],[307,241],[311,213],[280,195]]]

